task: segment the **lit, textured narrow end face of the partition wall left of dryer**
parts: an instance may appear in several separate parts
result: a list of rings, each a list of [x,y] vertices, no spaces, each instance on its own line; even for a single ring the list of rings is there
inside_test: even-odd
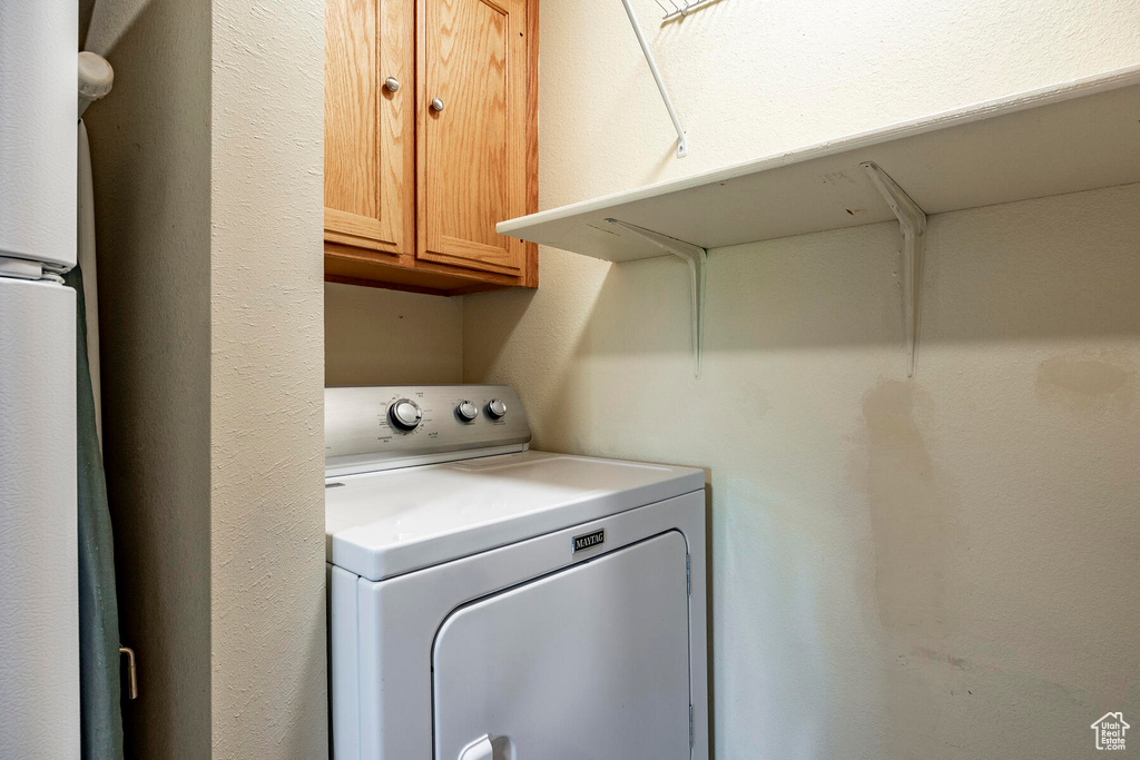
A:
[[[212,8],[214,758],[328,746],[324,19],[321,0]]]

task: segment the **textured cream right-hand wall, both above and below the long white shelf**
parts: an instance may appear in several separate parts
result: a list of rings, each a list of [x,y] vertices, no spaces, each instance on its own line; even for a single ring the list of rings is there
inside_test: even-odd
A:
[[[543,6],[552,207],[1137,63],[1132,2]],[[466,297],[464,376],[540,448],[708,467],[716,754],[1076,757],[1140,714],[1140,186],[931,219],[918,376],[894,224],[685,265],[542,252]]]

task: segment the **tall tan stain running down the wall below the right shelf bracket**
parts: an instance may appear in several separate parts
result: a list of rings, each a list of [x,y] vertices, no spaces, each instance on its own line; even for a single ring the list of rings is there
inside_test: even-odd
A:
[[[872,599],[885,636],[885,757],[910,757],[938,730],[939,684],[966,661],[943,652],[955,631],[948,574],[962,529],[947,476],[925,430],[934,402],[918,385],[888,378],[863,394],[863,419],[849,465],[864,493],[874,563]]]

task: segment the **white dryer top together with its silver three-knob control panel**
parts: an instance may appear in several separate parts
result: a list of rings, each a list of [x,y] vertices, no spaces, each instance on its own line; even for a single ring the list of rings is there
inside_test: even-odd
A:
[[[327,559],[374,581],[705,488],[691,467],[528,451],[506,386],[327,389],[325,403]]]

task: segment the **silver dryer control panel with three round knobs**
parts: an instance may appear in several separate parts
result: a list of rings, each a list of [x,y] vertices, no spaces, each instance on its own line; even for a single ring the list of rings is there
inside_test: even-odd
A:
[[[527,415],[510,385],[325,389],[328,475],[522,451],[529,442]]]

